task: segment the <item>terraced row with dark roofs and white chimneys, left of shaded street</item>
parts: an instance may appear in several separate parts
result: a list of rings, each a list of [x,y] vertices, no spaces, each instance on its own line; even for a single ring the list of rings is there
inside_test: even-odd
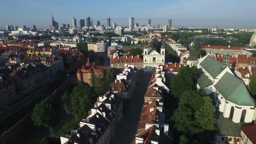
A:
[[[99,96],[79,128],[61,135],[61,144],[110,144],[123,116],[122,107],[122,100],[114,93]]]

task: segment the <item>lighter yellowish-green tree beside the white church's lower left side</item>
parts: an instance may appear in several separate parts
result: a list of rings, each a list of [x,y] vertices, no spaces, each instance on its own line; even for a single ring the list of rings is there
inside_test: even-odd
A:
[[[204,105],[195,113],[197,123],[203,131],[213,131],[217,129],[217,120],[215,118],[216,108],[213,100],[209,96],[203,97]]]

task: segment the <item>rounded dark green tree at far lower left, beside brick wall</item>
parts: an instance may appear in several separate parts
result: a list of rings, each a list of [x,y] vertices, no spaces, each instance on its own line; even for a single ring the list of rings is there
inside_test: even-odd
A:
[[[54,108],[52,98],[46,97],[33,109],[31,118],[36,126],[49,128],[53,124]]]

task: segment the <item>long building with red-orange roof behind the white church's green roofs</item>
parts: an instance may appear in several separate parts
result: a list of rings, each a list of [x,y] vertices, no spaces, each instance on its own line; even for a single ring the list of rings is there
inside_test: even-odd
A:
[[[209,54],[221,54],[226,55],[227,53],[237,57],[241,53],[243,46],[211,46],[204,45],[201,47],[202,50],[205,50]]]

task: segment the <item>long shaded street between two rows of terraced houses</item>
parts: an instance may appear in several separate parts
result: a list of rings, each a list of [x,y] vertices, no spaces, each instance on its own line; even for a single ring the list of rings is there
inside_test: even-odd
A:
[[[131,144],[137,131],[141,108],[144,103],[144,94],[147,90],[151,74],[138,73],[138,84],[135,95],[129,100],[129,107],[125,110],[124,117],[118,125],[112,144]]]

